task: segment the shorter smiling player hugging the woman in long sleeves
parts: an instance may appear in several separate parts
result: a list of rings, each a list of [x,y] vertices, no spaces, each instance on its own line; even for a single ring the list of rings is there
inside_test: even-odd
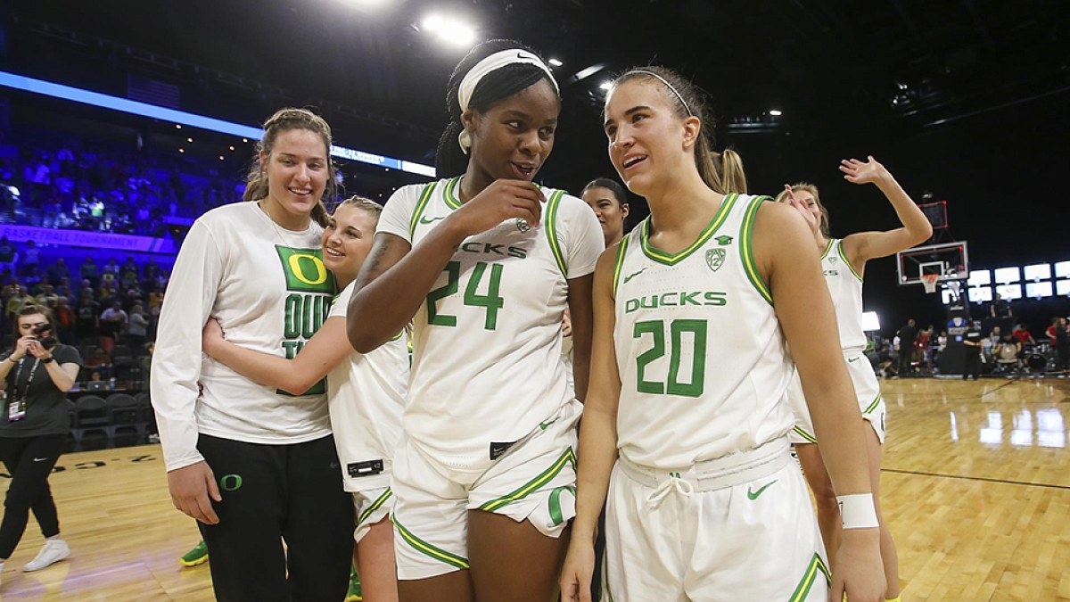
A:
[[[323,229],[323,265],[348,299],[371,250],[382,206],[354,196],[338,206]],[[336,302],[323,327],[293,359],[247,349],[224,337],[219,323],[204,327],[204,352],[255,382],[300,395],[327,379],[327,403],[342,484],[356,513],[357,574],[368,602],[397,600],[389,490],[391,460],[401,437],[401,407],[409,380],[404,333],[368,355],[346,337],[346,303]]]

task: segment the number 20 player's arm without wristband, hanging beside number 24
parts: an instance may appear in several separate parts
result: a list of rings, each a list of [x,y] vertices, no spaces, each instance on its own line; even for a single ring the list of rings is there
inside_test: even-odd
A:
[[[595,268],[591,383],[580,422],[579,449],[582,451],[577,476],[576,518],[561,572],[564,602],[591,602],[598,515],[609,490],[610,472],[616,462],[616,408],[621,397],[621,375],[613,343],[616,315],[612,287],[616,249],[616,245],[607,249]]]

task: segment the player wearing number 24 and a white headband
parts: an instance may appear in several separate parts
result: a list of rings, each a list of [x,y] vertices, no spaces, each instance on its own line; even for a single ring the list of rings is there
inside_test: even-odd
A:
[[[437,167],[450,177],[387,202],[348,317],[357,351],[413,321],[398,589],[408,602],[546,602],[575,512],[582,407],[560,361],[562,315],[567,304],[583,391],[601,231],[582,200],[532,183],[561,109],[532,50],[479,44],[446,104]]]

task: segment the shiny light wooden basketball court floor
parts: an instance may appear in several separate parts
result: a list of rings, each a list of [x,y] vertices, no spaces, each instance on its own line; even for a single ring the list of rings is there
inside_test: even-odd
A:
[[[882,497],[903,600],[1070,600],[1070,380],[882,388]],[[0,598],[213,600],[208,566],[179,565],[200,536],[171,507],[158,446],[70,454],[59,466],[50,482],[72,557],[22,573],[43,543],[31,517]]]

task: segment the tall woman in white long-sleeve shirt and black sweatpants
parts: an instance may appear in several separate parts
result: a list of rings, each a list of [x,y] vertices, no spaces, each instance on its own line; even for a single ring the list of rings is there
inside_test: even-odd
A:
[[[247,202],[194,223],[160,313],[151,388],[168,486],[175,508],[200,522],[225,602],[346,595],[353,502],[325,389],[291,395],[201,356],[209,317],[230,341],[286,357],[326,318],[335,295],[320,251],[321,198],[334,195],[330,148],[318,116],[272,116]]]

